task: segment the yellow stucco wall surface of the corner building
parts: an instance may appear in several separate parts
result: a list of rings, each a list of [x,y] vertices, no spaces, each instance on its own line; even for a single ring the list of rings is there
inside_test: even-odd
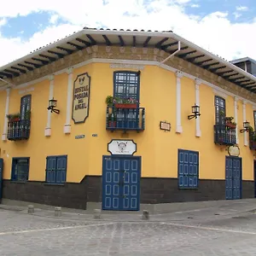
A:
[[[142,156],[143,177],[177,177],[177,149],[199,151],[202,179],[224,179],[224,146],[213,141],[215,122],[214,92],[206,84],[200,85],[201,137],[195,137],[195,119],[188,119],[191,106],[195,104],[195,81],[181,79],[183,133],[176,131],[176,75],[160,67],[145,66],[140,78],[140,103],[146,109],[146,129],[143,132],[128,132],[122,137],[121,131],[106,131],[106,103],[113,95],[113,72],[108,63],[93,63],[73,70],[73,80],[81,73],[89,73],[90,110],[84,124],[73,124],[71,134],[64,134],[67,109],[67,73],[55,75],[54,97],[60,114],[51,114],[51,137],[44,136],[47,124],[49,80],[26,87],[27,93],[11,90],[9,113],[20,110],[20,97],[32,95],[32,130],[28,141],[0,142],[1,157],[4,159],[4,175],[10,178],[12,157],[30,157],[29,180],[45,180],[46,156],[67,154],[67,182],[80,182],[85,175],[102,174],[102,155],[108,153],[108,143],[115,138],[133,139],[137,143],[136,155]],[[127,69],[123,69],[127,70]],[[24,89],[20,89],[24,90]],[[0,132],[3,121],[6,92],[0,92]],[[238,101],[238,128],[242,128],[242,102]],[[247,120],[253,125],[253,107],[247,103]],[[227,116],[234,116],[234,98],[226,99]],[[171,132],[160,131],[160,121],[172,125]],[[84,139],[75,139],[84,134]],[[92,137],[97,134],[97,137]],[[243,134],[239,133],[239,147],[242,157],[242,177],[253,180],[253,152],[244,146]],[[247,135],[246,135],[247,136]]]

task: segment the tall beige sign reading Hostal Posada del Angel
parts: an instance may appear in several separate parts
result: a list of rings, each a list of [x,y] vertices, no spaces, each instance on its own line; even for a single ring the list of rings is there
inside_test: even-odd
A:
[[[79,74],[73,83],[73,113],[75,124],[84,123],[89,116],[90,76],[88,73]]]

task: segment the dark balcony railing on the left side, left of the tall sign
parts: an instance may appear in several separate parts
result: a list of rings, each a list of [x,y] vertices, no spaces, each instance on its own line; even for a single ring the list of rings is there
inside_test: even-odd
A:
[[[7,138],[9,141],[27,140],[30,135],[30,119],[9,121]]]

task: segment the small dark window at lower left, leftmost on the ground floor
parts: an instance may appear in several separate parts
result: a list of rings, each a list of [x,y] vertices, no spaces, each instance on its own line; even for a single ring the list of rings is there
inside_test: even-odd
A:
[[[28,180],[29,158],[13,158],[12,177],[13,181],[26,182]]]

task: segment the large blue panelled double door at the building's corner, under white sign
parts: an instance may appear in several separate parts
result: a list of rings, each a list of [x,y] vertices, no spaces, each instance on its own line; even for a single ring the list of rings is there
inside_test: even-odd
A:
[[[141,157],[103,156],[102,210],[139,211]]]

